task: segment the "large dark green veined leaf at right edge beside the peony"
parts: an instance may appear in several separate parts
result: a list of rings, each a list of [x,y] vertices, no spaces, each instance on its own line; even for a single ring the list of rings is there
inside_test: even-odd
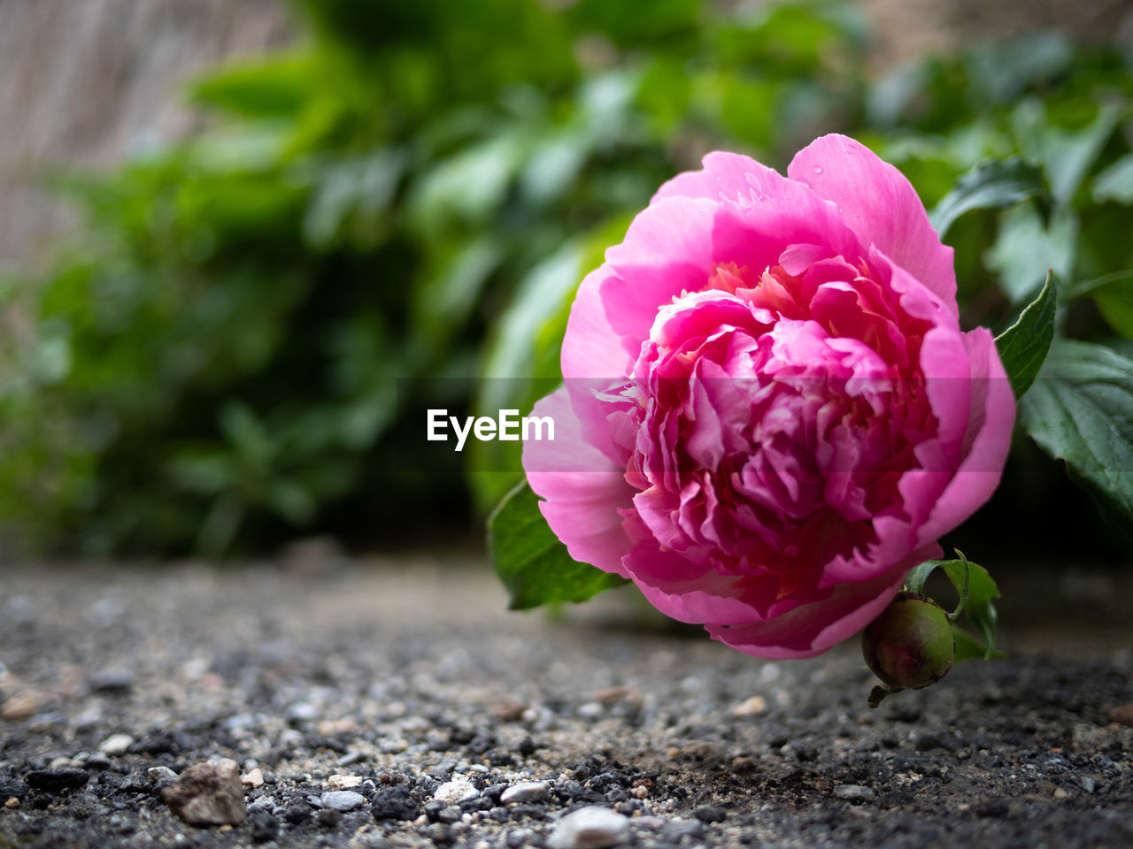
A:
[[[1133,360],[1104,345],[1055,341],[1019,419],[1110,518],[1133,529]]]

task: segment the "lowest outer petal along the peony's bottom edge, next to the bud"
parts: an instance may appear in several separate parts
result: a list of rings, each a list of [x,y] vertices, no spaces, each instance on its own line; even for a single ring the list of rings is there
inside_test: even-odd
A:
[[[767,621],[732,628],[706,627],[713,640],[757,658],[812,658],[876,619],[901,589],[905,573],[918,563],[939,556],[939,551],[935,543],[928,546],[884,575],[838,584],[827,598]]]

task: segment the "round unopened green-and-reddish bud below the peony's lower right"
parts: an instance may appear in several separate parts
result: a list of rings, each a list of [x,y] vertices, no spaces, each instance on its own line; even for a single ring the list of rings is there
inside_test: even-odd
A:
[[[862,632],[861,653],[892,689],[920,689],[952,669],[956,638],[944,608],[923,595],[902,592]]]

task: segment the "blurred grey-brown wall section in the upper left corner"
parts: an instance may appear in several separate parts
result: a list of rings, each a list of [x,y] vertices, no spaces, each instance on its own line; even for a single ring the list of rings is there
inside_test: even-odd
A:
[[[181,136],[184,80],[290,37],[280,0],[0,0],[0,264],[34,263],[69,223],[43,166]]]

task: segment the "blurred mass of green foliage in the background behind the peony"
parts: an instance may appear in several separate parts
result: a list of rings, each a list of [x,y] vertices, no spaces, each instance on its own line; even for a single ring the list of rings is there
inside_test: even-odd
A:
[[[929,206],[1007,163],[1017,203],[953,192],[938,211],[956,213],[965,326],[1004,326],[1053,267],[1067,335],[1133,337],[1117,51],[1032,36],[875,80],[842,2],[297,7],[303,44],[194,86],[206,131],[61,175],[84,238],[46,277],[0,281],[0,525],[17,540],[219,555],[467,526],[518,478],[475,470],[518,469],[513,444],[429,466],[398,428],[429,406],[529,408],[582,274],[713,148],[782,166],[849,132]]]

